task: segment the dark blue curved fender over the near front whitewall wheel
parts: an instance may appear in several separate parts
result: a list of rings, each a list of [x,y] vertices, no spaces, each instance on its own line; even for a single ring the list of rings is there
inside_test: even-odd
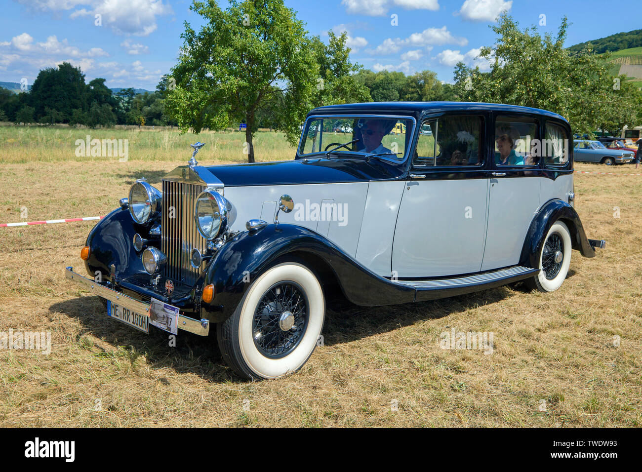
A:
[[[355,304],[377,306],[415,299],[414,288],[392,283],[370,272],[317,232],[280,223],[238,234],[209,263],[204,284],[214,285],[215,296],[211,303],[204,303],[202,307],[210,319],[220,322],[232,315],[252,281],[276,259],[288,254],[312,256],[325,264],[347,299]]]

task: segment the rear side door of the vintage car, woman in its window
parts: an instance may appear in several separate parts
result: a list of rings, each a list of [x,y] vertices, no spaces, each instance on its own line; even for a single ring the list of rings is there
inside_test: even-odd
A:
[[[528,115],[495,114],[482,271],[516,265],[539,207],[540,123]]]

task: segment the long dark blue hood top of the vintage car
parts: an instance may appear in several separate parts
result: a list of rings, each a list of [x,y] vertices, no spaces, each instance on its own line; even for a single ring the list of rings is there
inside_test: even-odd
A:
[[[372,158],[303,159],[282,162],[256,162],[207,167],[226,187],[252,185],[331,184],[396,180],[403,175],[403,164],[395,165]]]

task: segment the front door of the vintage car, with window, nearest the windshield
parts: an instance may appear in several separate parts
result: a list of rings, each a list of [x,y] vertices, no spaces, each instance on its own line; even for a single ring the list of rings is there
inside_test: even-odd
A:
[[[489,179],[487,115],[447,114],[419,127],[392,247],[397,277],[478,272]]]

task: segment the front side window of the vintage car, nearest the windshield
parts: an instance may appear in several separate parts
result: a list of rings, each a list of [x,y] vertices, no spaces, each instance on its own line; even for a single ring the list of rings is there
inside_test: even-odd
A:
[[[482,162],[482,117],[444,116],[422,123],[415,164],[477,166]]]

